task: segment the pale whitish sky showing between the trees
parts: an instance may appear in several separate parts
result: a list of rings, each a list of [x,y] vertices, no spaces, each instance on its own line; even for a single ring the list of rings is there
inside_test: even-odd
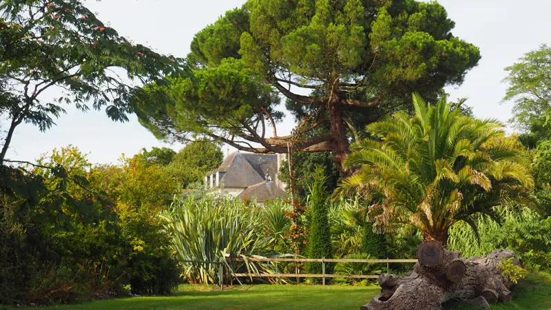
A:
[[[452,100],[468,98],[479,118],[507,121],[512,103],[501,103],[507,85],[503,68],[517,62],[526,52],[541,43],[551,44],[551,1],[548,0],[441,0],[438,1],[455,21],[453,34],[473,43],[482,59],[466,75],[459,87],[448,88]],[[227,10],[242,6],[245,0],[103,0],[84,1],[97,12],[99,19],[136,43],[164,54],[185,57],[196,32],[214,23]],[[92,163],[116,163],[121,154],[133,156],[146,147],[166,145],[143,128],[136,116],[127,123],[114,123],[105,112],[79,112],[65,107],[56,126],[39,132],[33,125],[20,125],[12,140],[7,158],[34,161],[54,148],[74,145],[90,153]],[[288,134],[293,127],[289,116],[278,126],[278,134]],[[224,147],[225,151],[227,147]]]

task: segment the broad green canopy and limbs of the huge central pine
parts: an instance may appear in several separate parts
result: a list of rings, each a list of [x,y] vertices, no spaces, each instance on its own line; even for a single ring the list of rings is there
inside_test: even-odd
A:
[[[352,119],[364,125],[413,91],[435,98],[477,65],[478,48],[454,37],[454,26],[435,2],[249,0],[196,34],[191,76],[157,87],[138,116],[162,138],[331,151],[341,169]],[[276,130],[281,96],[299,116],[291,136]],[[325,130],[309,134],[317,127]]]

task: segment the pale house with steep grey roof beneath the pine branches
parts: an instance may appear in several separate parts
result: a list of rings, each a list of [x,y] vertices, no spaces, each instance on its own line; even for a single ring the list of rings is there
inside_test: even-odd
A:
[[[233,152],[205,176],[205,184],[213,192],[259,203],[283,198],[287,192],[278,172],[285,158],[284,154]]]

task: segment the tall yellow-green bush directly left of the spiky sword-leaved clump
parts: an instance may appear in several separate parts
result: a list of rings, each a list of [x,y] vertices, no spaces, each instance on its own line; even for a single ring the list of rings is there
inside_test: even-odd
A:
[[[142,154],[123,158],[120,166],[94,167],[92,174],[94,187],[117,200],[114,210],[127,258],[124,280],[132,293],[170,293],[181,282],[180,269],[158,212],[170,205],[176,183]]]

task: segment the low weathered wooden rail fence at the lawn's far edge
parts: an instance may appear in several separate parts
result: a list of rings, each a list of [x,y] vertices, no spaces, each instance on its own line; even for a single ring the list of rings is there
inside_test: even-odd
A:
[[[242,258],[236,259],[237,261],[244,261]],[[276,273],[233,273],[233,276],[238,277],[265,277],[265,278],[322,278],[322,283],[325,285],[326,278],[360,278],[360,279],[376,279],[379,278],[378,275],[346,275],[346,274],[333,274],[325,273],[325,263],[326,262],[369,262],[369,263],[386,263],[386,268],[388,269],[388,264],[391,262],[417,262],[417,260],[363,260],[363,259],[337,259],[337,258],[247,258],[249,262],[275,262],[275,271]],[[321,262],[322,263],[322,273],[300,273],[299,269],[296,268],[296,273],[277,273],[278,262]]]

